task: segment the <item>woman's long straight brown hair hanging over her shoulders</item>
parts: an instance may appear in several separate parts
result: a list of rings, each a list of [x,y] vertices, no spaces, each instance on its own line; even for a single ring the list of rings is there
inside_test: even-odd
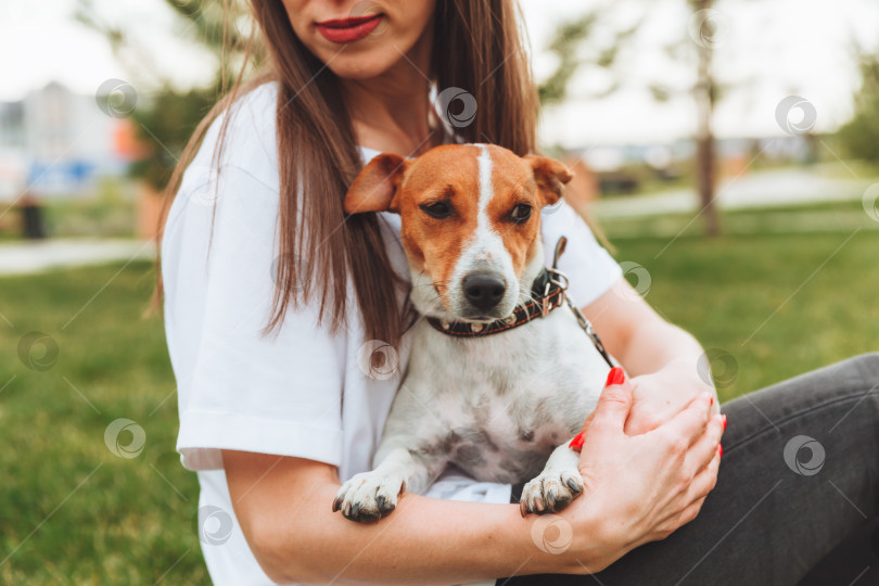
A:
[[[362,161],[340,80],[293,33],[281,2],[251,0],[251,7],[266,67],[243,82],[242,66],[232,89],[201,122],[171,177],[166,208],[211,123],[229,112],[238,97],[278,81],[280,262],[265,332],[280,326],[291,303],[295,307],[315,295],[319,318],[329,319],[331,330],[337,331],[346,324],[351,276],[367,339],[397,346],[407,317],[394,288],[405,288],[405,282],[392,269],[380,218],[374,213],[346,216],[343,211],[345,192]],[[466,90],[477,106],[472,123],[456,133],[466,142],[491,142],[520,155],[533,151],[537,93],[515,0],[437,0],[435,10],[429,76],[440,91]],[[229,118],[222,120],[215,161],[221,156]],[[300,184],[307,187],[300,190]]]

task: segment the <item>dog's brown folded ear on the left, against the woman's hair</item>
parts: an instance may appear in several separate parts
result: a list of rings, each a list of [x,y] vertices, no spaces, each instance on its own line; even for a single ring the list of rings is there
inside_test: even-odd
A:
[[[398,154],[382,153],[367,163],[345,194],[345,213],[399,212],[397,191],[406,160]]]

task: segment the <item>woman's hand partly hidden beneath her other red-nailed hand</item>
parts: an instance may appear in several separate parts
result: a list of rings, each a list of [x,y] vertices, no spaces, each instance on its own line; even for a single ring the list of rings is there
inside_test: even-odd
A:
[[[715,396],[714,386],[702,380],[695,365],[672,364],[629,382],[634,400],[625,424],[628,435],[649,432],[670,421],[700,393]],[[719,412],[717,400],[712,403],[711,412]]]

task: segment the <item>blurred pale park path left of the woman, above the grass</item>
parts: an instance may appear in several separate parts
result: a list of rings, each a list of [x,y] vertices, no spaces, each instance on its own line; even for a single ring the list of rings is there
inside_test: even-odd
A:
[[[0,276],[60,267],[155,258],[155,244],[138,240],[58,239],[0,244]]]

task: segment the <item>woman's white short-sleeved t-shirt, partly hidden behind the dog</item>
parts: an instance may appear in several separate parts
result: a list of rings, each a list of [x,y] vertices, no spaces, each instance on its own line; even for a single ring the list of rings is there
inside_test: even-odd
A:
[[[269,82],[237,102],[218,186],[212,155],[221,117],[211,126],[183,175],[162,242],[165,330],[180,415],[177,450],[183,466],[199,473],[200,538],[216,584],[271,584],[235,520],[220,449],[328,462],[343,481],[370,470],[411,345],[405,335],[394,377],[367,375],[358,355],[369,341],[351,283],[346,332],[333,335],[318,327],[315,304],[308,304],[291,307],[276,336],[260,334],[270,316],[279,255],[277,90]],[[365,160],[378,154],[366,148],[362,153]],[[388,256],[408,281],[399,216],[382,213],[380,218]],[[578,305],[621,277],[619,265],[568,204],[543,212],[542,231],[547,263],[559,235],[568,237],[560,269]],[[429,495],[509,502],[510,486],[446,473]]]

